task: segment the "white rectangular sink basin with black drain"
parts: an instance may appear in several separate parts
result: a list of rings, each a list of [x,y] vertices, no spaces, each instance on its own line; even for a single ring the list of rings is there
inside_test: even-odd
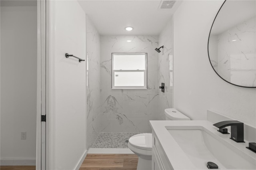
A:
[[[200,170],[208,169],[207,162],[214,162],[219,169],[255,170],[255,160],[214,138],[214,134],[206,128],[168,129],[168,132]]]

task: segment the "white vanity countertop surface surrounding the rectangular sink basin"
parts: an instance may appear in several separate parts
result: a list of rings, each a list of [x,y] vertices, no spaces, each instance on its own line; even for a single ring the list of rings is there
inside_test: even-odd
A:
[[[214,134],[215,138],[227,146],[235,146],[250,158],[256,160],[256,154],[246,148],[248,142],[237,143],[230,139],[230,134],[221,134],[218,128],[209,121],[150,121],[152,133],[159,141],[169,166],[173,169],[197,169],[179,144],[174,140],[168,129],[206,129],[205,131]],[[239,151],[239,152],[240,152]]]

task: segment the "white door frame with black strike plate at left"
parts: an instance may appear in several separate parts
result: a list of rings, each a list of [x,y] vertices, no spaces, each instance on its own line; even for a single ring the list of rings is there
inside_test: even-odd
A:
[[[49,1],[37,0],[37,118],[36,169],[50,170]],[[46,121],[42,121],[46,115]]]

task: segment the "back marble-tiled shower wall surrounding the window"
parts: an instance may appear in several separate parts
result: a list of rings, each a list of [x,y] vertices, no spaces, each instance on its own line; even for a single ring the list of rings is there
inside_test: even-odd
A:
[[[158,116],[158,37],[101,36],[100,43],[100,130],[151,132],[149,120]],[[112,90],[111,53],[148,53],[148,89]]]

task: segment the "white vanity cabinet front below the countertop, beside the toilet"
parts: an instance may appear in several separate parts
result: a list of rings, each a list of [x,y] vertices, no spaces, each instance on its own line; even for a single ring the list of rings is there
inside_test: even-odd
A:
[[[173,170],[154,132],[152,132],[152,170]]]

